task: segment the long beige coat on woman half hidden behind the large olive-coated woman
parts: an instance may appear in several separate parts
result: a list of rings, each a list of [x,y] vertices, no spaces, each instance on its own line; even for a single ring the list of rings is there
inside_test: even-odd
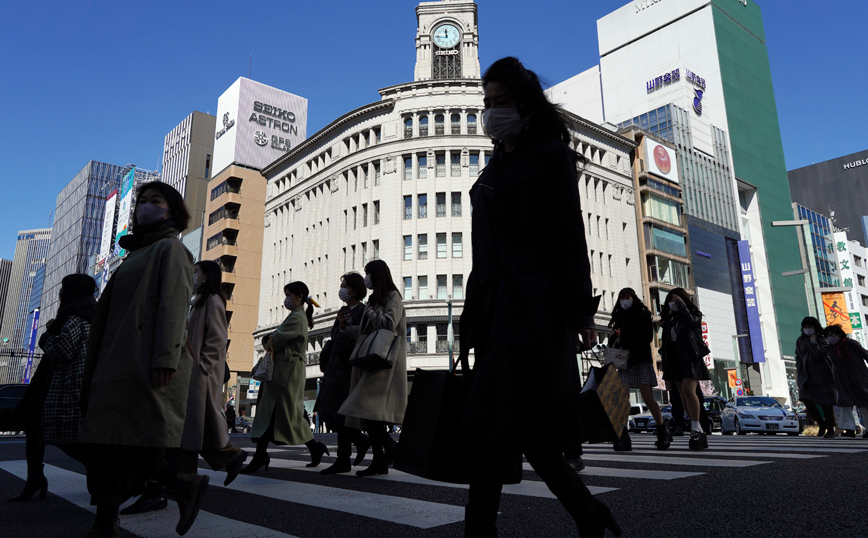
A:
[[[197,299],[198,300],[198,299]],[[187,397],[187,420],[181,448],[198,452],[229,444],[223,413],[223,370],[229,338],[226,307],[211,295],[200,308],[193,307],[188,322],[193,371]]]

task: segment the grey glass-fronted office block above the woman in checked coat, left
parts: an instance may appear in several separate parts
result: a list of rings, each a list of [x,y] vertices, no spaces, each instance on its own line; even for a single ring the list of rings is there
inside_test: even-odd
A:
[[[60,281],[88,273],[100,250],[107,197],[120,186],[123,167],[88,162],[57,195],[51,244],[42,289],[40,331],[57,313]]]

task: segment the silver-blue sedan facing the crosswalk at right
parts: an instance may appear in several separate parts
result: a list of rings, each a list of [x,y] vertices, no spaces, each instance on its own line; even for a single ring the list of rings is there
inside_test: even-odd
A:
[[[774,435],[799,435],[799,418],[768,396],[741,396],[727,402],[720,414],[721,433],[745,435],[748,432]]]

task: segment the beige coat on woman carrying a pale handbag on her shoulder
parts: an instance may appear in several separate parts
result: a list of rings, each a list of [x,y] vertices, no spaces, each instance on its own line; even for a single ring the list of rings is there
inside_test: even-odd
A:
[[[392,350],[393,366],[375,372],[353,368],[350,395],[338,413],[349,417],[348,426],[358,425],[358,420],[353,418],[401,424],[407,408],[407,317],[401,294],[393,291],[385,307],[377,305],[373,314],[365,314],[365,317],[367,320],[360,325],[348,326],[344,331],[356,339],[352,356],[358,352],[365,334],[373,329],[391,329],[398,335],[397,345]]]

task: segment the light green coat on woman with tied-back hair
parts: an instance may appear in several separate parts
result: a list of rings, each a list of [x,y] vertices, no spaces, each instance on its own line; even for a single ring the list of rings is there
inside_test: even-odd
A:
[[[277,445],[303,445],[313,439],[310,425],[304,420],[305,357],[307,355],[307,315],[303,306],[295,307],[280,327],[262,339],[265,349],[274,353],[271,381],[259,387],[259,403],[250,438],[265,435],[274,419]]]

